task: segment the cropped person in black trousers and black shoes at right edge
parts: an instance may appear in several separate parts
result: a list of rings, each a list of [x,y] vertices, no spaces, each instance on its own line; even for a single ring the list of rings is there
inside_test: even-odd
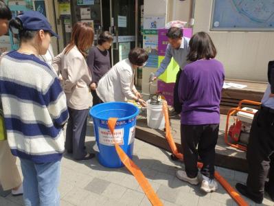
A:
[[[258,204],[262,203],[264,191],[274,201],[274,97],[271,84],[266,88],[260,110],[254,115],[247,146],[247,162],[247,185],[237,183],[237,190]]]

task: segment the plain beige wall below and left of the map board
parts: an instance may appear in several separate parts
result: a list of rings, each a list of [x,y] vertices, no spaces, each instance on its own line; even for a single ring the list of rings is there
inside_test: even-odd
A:
[[[196,0],[194,33],[209,32],[213,0]],[[226,78],[266,81],[267,64],[274,60],[274,32],[209,32]]]

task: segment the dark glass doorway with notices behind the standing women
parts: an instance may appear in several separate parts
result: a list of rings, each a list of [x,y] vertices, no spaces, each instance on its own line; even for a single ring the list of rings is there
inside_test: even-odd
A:
[[[65,47],[71,38],[71,27],[78,21],[90,23],[95,32],[94,44],[102,31],[113,35],[110,49],[111,65],[128,58],[128,52],[135,45],[141,46],[140,14],[144,0],[55,0],[62,14],[58,16],[59,35]],[[64,9],[70,4],[70,9]],[[60,6],[61,5],[61,6]],[[60,13],[60,11],[59,11]],[[62,48],[61,48],[62,49]]]

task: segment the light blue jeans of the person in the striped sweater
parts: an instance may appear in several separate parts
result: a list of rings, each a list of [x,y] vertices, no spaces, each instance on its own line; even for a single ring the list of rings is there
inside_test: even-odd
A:
[[[58,206],[60,195],[60,161],[37,164],[20,159],[23,173],[25,206]]]

